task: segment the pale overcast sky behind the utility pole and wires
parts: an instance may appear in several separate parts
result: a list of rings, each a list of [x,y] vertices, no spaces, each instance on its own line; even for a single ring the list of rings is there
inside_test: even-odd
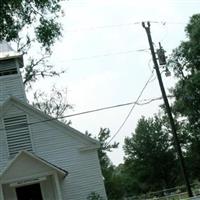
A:
[[[142,21],[151,22],[154,47],[161,42],[170,55],[185,40],[189,17],[199,12],[199,0],[69,0],[62,2],[63,37],[53,47],[50,62],[66,72],[59,78],[42,80],[34,89],[55,85],[67,88],[73,110],[67,114],[134,102],[153,70],[149,44]],[[161,71],[164,69],[162,68]],[[165,77],[166,87],[175,84]],[[140,100],[161,97],[155,73]],[[124,138],[134,133],[141,116],[158,113],[162,101],[135,106],[113,141],[119,148],[109,153],[115,165],[123,162]],[[115,135],[132,105],[71,117],[72,127],[95,137],[100,128]]]

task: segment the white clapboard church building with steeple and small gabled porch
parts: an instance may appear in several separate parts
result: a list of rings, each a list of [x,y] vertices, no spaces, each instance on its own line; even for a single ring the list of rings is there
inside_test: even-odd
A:
[[[20,74],[23,57],[0,44],[0,200],[107,199],[99,143],[35,109]]]

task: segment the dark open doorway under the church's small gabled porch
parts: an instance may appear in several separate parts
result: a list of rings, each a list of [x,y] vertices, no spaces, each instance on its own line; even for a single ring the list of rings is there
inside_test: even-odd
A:
[[[16,188],[17,200],[43,200],[40,184]]]

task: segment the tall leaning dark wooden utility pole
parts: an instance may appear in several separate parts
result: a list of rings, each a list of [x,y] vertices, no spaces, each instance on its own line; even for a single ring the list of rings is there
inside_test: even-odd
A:
[[[179,142],[178,135],[177,135],[177,132],[176,132],[174,119],[173,119],[173,116],[172,116],[171,108],[169,106],[169,102],[168,102],[167,95],[166,95],[166,92],[165,92],[165,88],[164,88],[164,85],[163,85],[163,82],[162,82],[162,77],[161,77],[161,74],[160,74],[159,66],[158,66],[158,63],[157,63],[157,59],[156,59],[156,55],[155,55],[155,51],[154,51],[154,47],[153,47],[153,42],[152,42],[152,38],[151,38],[151,31],[150,31],[150,22],[147,22],[147,26],[145,25],[144,22],[142,22],[142,26],[147,33],[149,46],[150,46],[150,50],[151,50],[151,54],[152,54],[152,59],[153,59],[153,62],[154,62],[154,66],[155,66],[158,82],[159,82],[159,85],[160,85],[160,90],[162,92],[163,100],[164,100],[164,103],[165,103],[166,111],[167,111],[167,114],[168,114],[168,117],[169,117],[171,130],[172,130],[174,143],[175,143],[175,149],[177,151],[178,158],[179,158],[179,161],[180,161],[181,172],[182,172],[182,175],[183,175],[183,178],[184,178],[184,181],[185,181],[188,196],[193,197],[191,186],[190,186],[190,183],[189,183],[189,179],[188,179],[188,176],[187,176],[187,173],[186,173],[186,167],[185,167],[185,162],[184,162],[180,142]]]

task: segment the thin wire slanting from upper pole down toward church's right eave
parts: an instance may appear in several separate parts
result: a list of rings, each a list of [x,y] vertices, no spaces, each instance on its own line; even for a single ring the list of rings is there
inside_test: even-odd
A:
[[[120,127],[118,128],[118,130],[116,131],[116,133],[111,137],[111,139],[108,141],[107,145],[110,144],[110,142],[117,136],[117,134],[121,131],[121,129],[123,128],[123,126],[125,125],[125,123],[127,122],[128,118],[130,117],[133,109],[135,108],[135,106],[138,104],[138,101],[140,99],[140,97],[142,96],[144,90],[146,89],[147,85],[149,84],[149,82],[151,81],[152,77],[154,74],[154,70],[152,71],[150,77],[148,78],[147,82],[145,83],[144,87],[142,88],[138,98],[136,99],[135,103],[133,104],[132,108],[130,109],[130,111],[128,112],[127,116],[125,117],[124,121],[122,122],[122,124],[120,125]]]

